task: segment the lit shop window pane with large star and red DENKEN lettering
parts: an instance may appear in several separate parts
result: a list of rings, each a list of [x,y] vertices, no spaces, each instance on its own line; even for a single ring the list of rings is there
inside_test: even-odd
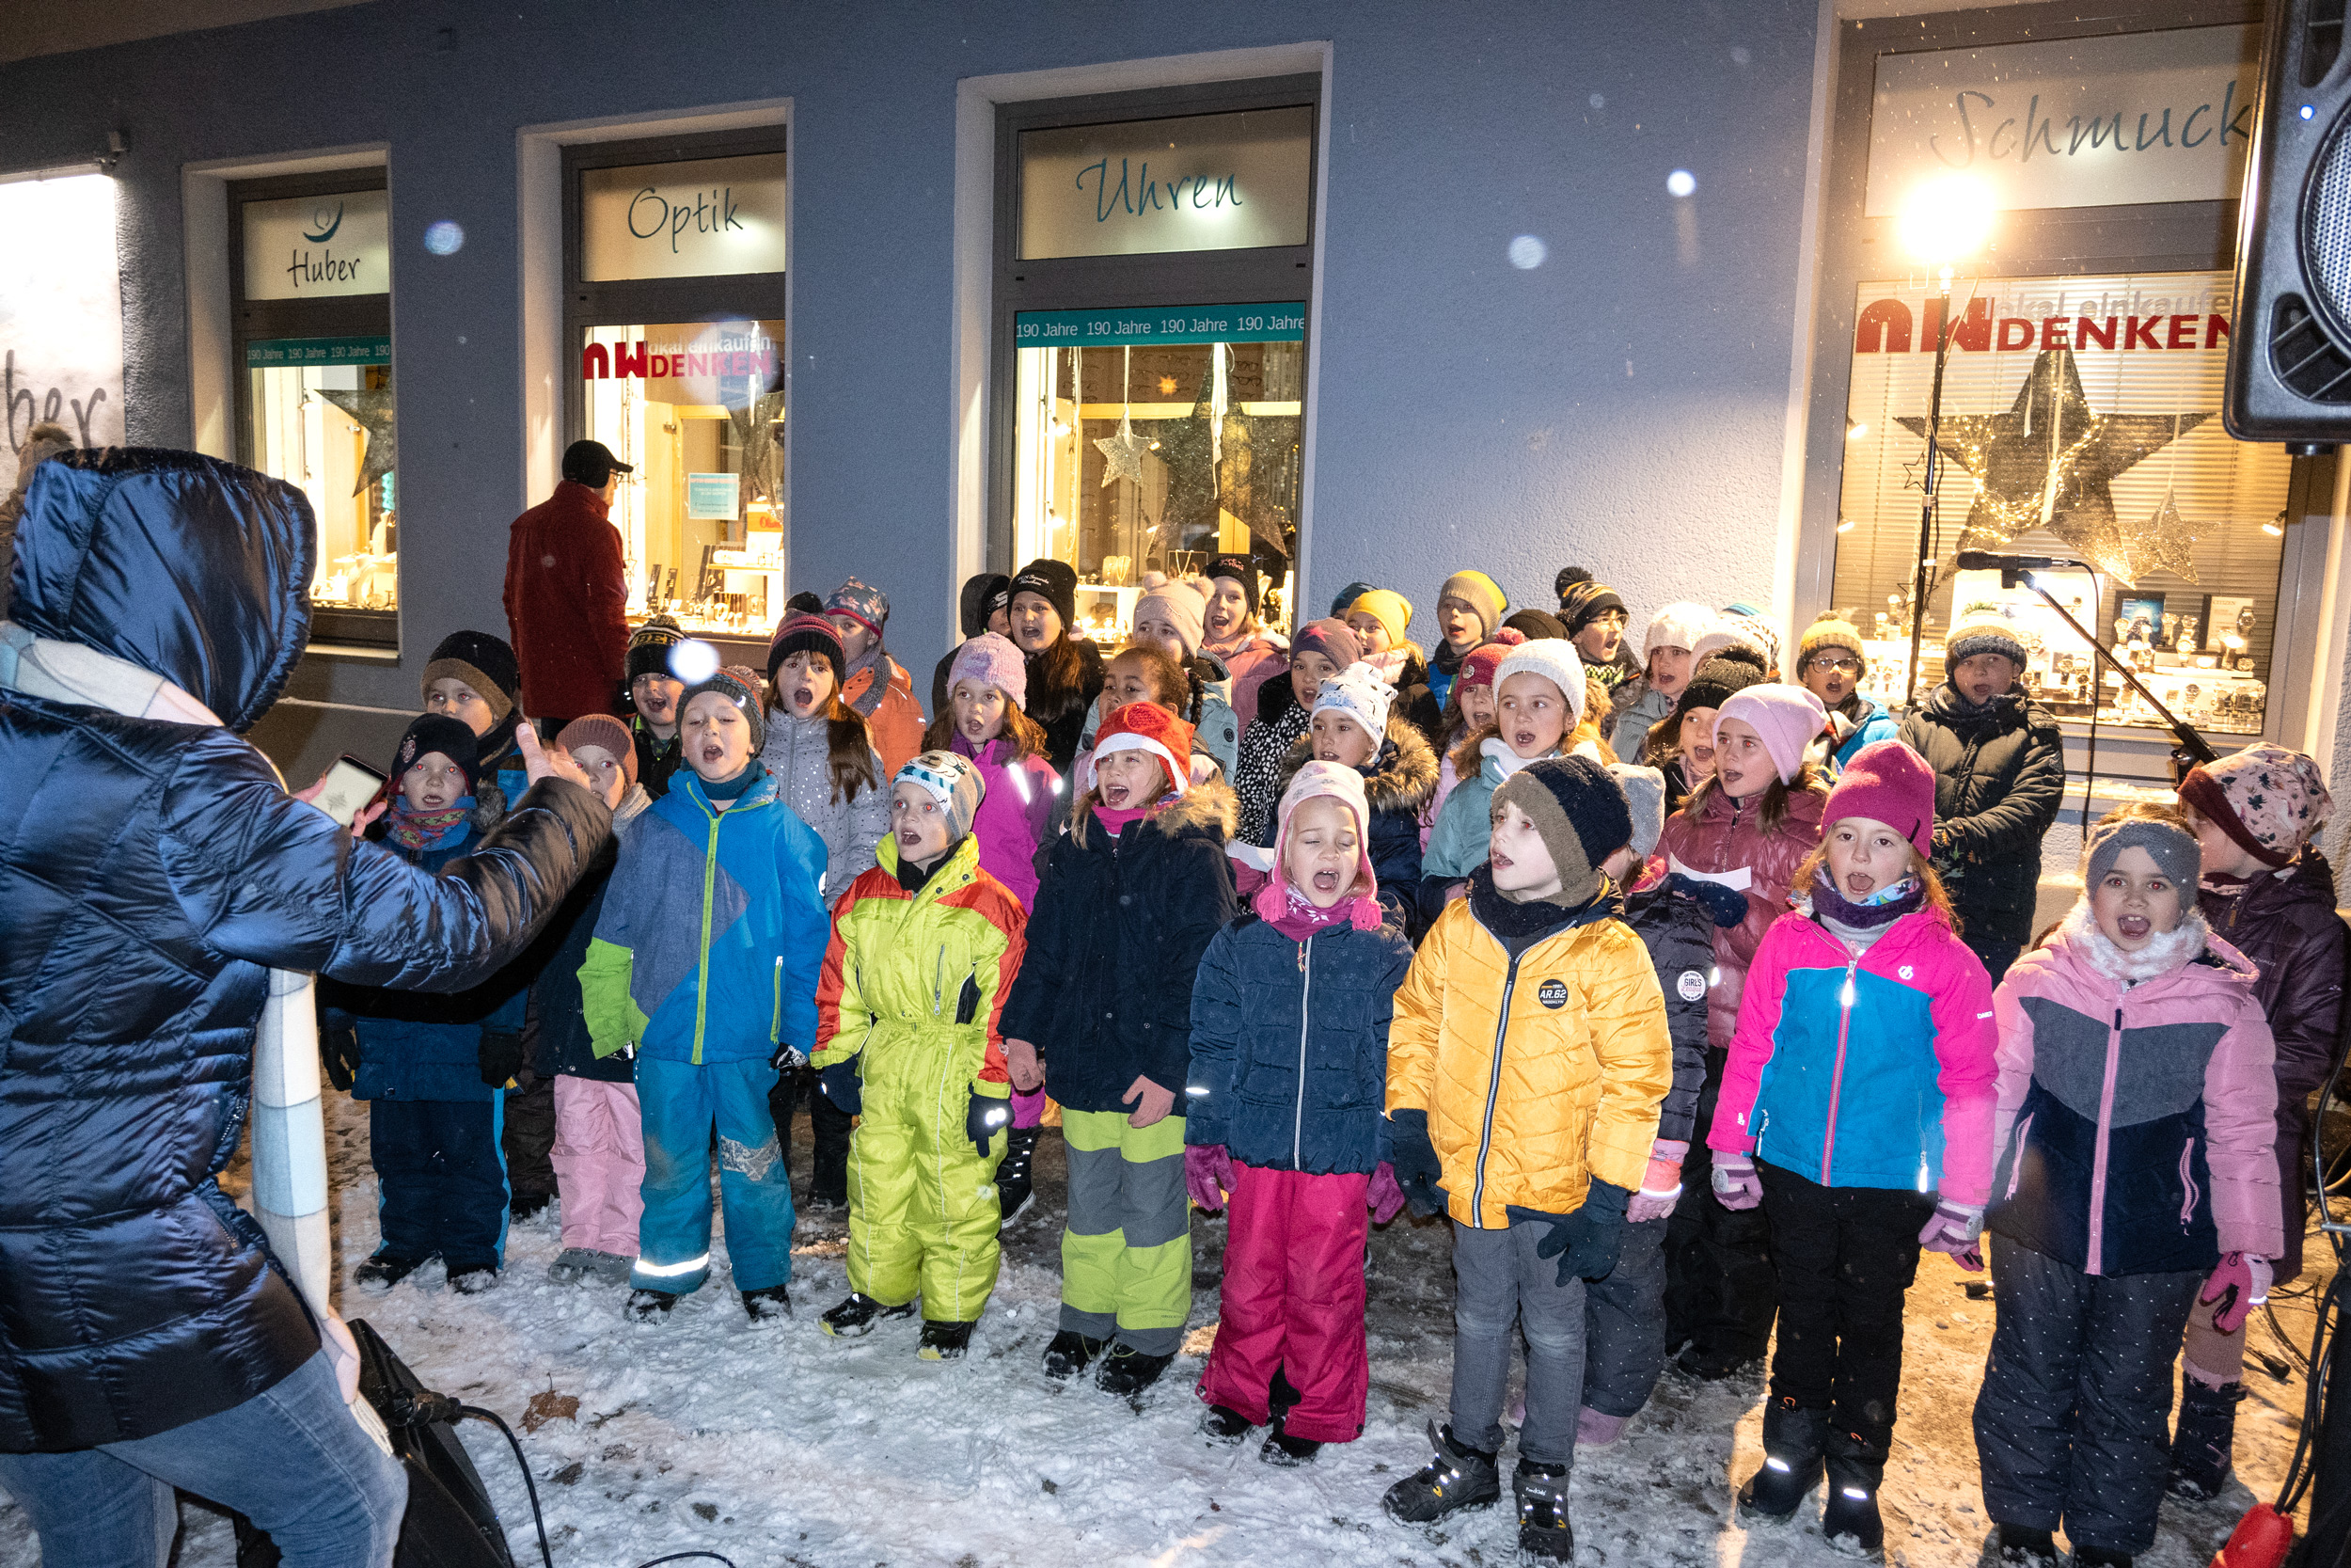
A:
[[[1954,614],[1998,607],[2059,717],[2161,724],[2027,588],[1956,571],[1958,550],[2071,557],[2041,583],[2182,719],[2262,733],[2292,458],[2222,430],[2229,273],[1961,280],[1942,393],[1942,484],[1923,623],[1925,693]],[[1857,299],[1834,604],[1902,701],[1925,421],[1942,301],[1921,282]]]

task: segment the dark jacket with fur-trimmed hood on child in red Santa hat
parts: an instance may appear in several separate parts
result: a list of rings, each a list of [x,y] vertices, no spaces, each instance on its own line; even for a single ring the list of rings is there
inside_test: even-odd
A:
[[[1070,1110],[1114,1110],[1136,1077],[1176,1091],[1192,1072],[1192,978],[1225,922],[1232,891],[1232,790],[1192,785],[1117,839],[1086,820],[1060,835],[1030,910],[1027,957],[1004,1004],[1004,1039],[1046,1063],[1046,1088]]]

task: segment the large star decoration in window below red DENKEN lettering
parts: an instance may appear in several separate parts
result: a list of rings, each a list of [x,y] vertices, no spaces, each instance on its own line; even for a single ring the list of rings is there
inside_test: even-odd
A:
[[[1937,447],[1975,477],[1975,505],[1958,548],[1998,548],[2029,529],[2048,529],[2099,571],[2135,583],[2109,480],[2208,418],[2210,411],[2095,414],[2071,348],[2034,355],[2005,414],[1942,418]],[[1902,416],[1897,423],[1925,437],[1928,421]]]

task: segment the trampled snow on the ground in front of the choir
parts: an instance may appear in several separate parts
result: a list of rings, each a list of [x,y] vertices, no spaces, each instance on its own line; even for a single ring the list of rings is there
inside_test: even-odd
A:
[[[538,1479],[555,1561],[632,1568],[668,1552],[719,1552],[738,1568],[1185,1568],[1190,1563],[1444,1563],[1514,1559],[1507,1507],[1434,1530],[1404,1528],[1380,1493],[1427,1458],[1422,1427],[1444,1420],[1451,1375],[1451,1241],[1441,1222],[1399,1220],[1371,1244],[1371,1415],[1354,1443],[1305,1469],[1258,1462],[1255,1441],[1211,1448],[1194,1434],[1199,1356],[1178,1359],[1140,1408],[1089,1382],[1039,1371],[1053,1335],[1060,1269],[1063,1152],[1037,1150],[1037,1204],[1006,1239],[1004,1281],[971,1359],[915,1356],[917,1326],[884,1324],[837,1342],[816,1314],[846,1291],[837,1220],[802,1220],[788,1326],[752,1328],[724,1265],[668,1324],[625,1324],[621,1288],[545,1281],[552,1215],[515,1227],[505,1281],[461,1298],[430,1265],[388,1295],[362,1295],[348,1272],[374,1251],[376,1182],[367,1110],[329,1091],[329,1159],[346,1291],[433,1387],[520,1422],[534,1394],[578,1399],[578,1415],[522,1434]],[[806,1171],[806,1124],[797,1171]],[[795,1182],[795,1190],[804,1182]],[[2320,1253],[2325,1248],[2320,1246]],[[1192,1321],[1215,1321],[1223,1220],[1194,1222]],[[1907,1568],[1984,1563],[1987,1523],[1968,1410],[1991,1338],[1991,1302],[1928,1255],[1911,1288],[1902,1425],[1886,1481],[1888,1561]],[[2288,1333],[2309,1335],[2309,1302],[2280,1300]],[[1194,1331],[1194,1345],[1206,1340]],[[2257,1324],[2255,1349],[2283,1356]],[[2165,1505],[2149,1568],[2203,1568],[2236,1519],[2283,1476],[2302,1418],[2302,1380],[2250,1368],[2238,1422],[2238,1474],[2208,1507]],[[1737,1563],[1780,1568],[1850,1561],[1810,1523],[1742,1530],[1733,1481],[1761,1462],[1761,1373],[1697,1385],[1674,1373],[1608,1450],[1575,1465],[1580,1563]],[[503,1439],[463,1427],[489,1481],[517,1563],[536,1563],[529,1502]],[[1505,1453],[1505,1465],[1509,1455]],[[235,1559],[226,1519],[188,1505],[183,1568]],[[38,1552],[14,1507],[0,1507],[0,1568]]]

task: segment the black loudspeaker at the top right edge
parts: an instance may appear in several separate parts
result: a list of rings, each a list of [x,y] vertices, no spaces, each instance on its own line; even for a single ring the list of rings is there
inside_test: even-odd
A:
[[[2351,440],[2346,0],[2271,0],[2236,242],[2222,423],[2243,442]]]

